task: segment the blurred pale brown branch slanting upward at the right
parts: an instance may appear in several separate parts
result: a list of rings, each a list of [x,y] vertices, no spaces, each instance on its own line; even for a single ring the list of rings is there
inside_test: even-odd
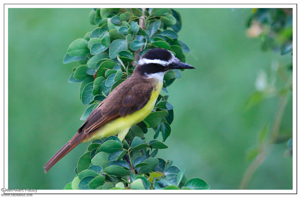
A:
[[[272,126],[271,134],[270,134],[270,142],[268,142],[268,144],[274,144],[277,139],[281,119],[282,119],[285,107],[287,105],[287,101],[288,101],[288,94],[281,96],[280,102],[278,105],[278,109],[277,109],[277,112],[275,115],[274,123]],[[253,160],[253,162],[247,168],[247,170],[244,173],[244,176],[241,180],[239,189],[247,189],[249,181],[252,178],[253,173],[263,163],[263,161],[265,160],[265,157],[269,153],[269,151],[267,151],[267,146],[268,145],[262,145],[260,153],[257,155],[255,160]]]

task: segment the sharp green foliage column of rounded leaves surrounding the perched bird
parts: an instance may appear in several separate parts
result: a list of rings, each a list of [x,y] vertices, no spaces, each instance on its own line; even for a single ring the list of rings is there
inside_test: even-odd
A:
[[[139,27],[144,16],[146,29]],[[184,52],[189,48],[178,41],[181,29],[180,14],[169,8],[97,8],[92,9],[89,21],[97,25],[84,39],[73,41],[64,57],[64,63],[79,61],[69,82],[80,82],[82,104],[90,106],[81,120],[121,82],[131,76],[139,56],[150,49],[161,47],[170,50],[185,62]],[[83,62],[85,60],[85,62]],[[175,78],[178,70],[164,76],[163,90]],[[125,140],[116,136],[93,141],[79,158],[76,176],[64,189],[209,189],[201,179],[187,180],[184,169],[171,166],[172,161],[155,158],[159,149],[168,148],[163,142],[171,133],[173,106],[168,96],[159,95],[156,105],[143,121],[132,126]],[[155,131],[154,140],[146,142],[147,128]],[[157,141],[162,133],[163,142]]]

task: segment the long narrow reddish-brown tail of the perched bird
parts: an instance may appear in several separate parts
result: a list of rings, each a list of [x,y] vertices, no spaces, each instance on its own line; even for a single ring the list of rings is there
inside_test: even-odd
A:
[[[75,148],[77,145],[79,145],[82,142],[82,136],[84,135],[84,133],[76,133],[72,139],[69,140],[69,142],[67,142],[67,144],[65,144],[60,150],[58,150],[56,152],[56,154],[54,154],[54,156],[52,156],[50,158],[50,160],[48,160],[48,162],[45,164],[45,166],[43,168],[45,168],[45,173],[55,164],[57,163],[59,160],[61,160],[67,153],[69,153],[73,148]]]

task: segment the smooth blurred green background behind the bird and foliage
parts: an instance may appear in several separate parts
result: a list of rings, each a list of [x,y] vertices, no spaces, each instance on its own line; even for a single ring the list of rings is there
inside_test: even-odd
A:
[[[63,189],[89,143],[81,144],[45,174],[43,166],[81,126],[87,106],[79,84],[68,83],[73,67],[63,64],[69,44],[94,29],[88,9],[8,10],[8,188]],[[202,178],[211,189],[238,189],[250,161],[246,153],[258,144],[261,129],[272,125],[279,99],[272,97],[248,111],[260,69],[272,61],[290,62],[287,54],[262,52],[259,38],[247,38],[251,9],[175,9],[182,15],[179,39],[191,50],[182,72],[169,88],[174,106],[168,149],[157,157],[186,168],[188,178]],[[292,130],[292,97],[281,122]],[[146,136],[151,139],[152,129]],[[248,189],[292,189],[292,158],[286,142],[254,173]]]

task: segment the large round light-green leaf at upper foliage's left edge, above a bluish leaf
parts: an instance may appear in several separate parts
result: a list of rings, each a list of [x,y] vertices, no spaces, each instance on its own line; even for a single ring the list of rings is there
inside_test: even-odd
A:
[[[67,53],[70,56],[85,56],[89,53],[86,42],[87,40],[83,38],[76,39],[69,45]]]

